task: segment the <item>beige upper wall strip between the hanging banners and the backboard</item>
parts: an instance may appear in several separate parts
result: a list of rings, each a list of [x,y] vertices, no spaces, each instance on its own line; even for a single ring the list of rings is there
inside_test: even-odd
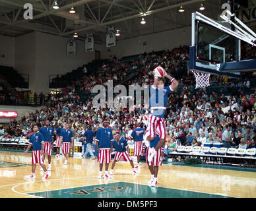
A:
[[[144,42],[146,45],[143,45]],[[108,58],[110,55],[115,55],[121,59],[127,55],[144,53],[144,51],[171,50],[179,45],[191,45],[191,26],[121,41],[118,41],[117,38],[117,45],[110,47],[110,52],[107,54]]]

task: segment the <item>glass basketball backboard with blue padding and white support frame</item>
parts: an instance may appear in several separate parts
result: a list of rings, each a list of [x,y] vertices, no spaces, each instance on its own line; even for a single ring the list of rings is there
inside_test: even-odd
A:
[[[226,20],[226,16],[220,17],[224,19],[223,22],[198,12],[192,13],[189,68],[211,75],[240,78],[241,71],[256,69],[255,60],[241,61],[241,41],[255,45],[255,37]],[[232,25],[235,25],[235,30],[232,30]],[[254,32],[251,33],[254,35]]]

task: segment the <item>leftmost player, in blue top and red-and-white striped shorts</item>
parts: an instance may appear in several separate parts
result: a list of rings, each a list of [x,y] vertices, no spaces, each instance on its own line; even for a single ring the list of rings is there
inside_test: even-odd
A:
[[[40,164],[40,166],[44,169],[45,175],[42,179],[47,179],[49,177],[49,172],[46,169],[46,165],[44,165],[44,136],[42,133],[38,131],[38,125],[34,125],[32,127],[34,133],[30,135],[28,148],[25,151],[25,154],[28,153],[31,146],[33,147],[32,150],[32,173],[28,179],[36,179],[36,164]]]

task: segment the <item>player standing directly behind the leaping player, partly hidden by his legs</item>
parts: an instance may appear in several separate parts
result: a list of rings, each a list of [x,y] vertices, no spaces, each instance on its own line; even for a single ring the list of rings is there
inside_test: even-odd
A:
[[[148,164],[149,171],[151,173],[151,179],[148,181],[148,185],[156,187],[157,186],[157,175],[158,175],[158,166],[162,165],[162,149],[159,147],[160,138],[158,135],[154,137],[154,140],[150,141],[150,146],[146,149],[146,164]],[[149,162],[148,157],[152,150],[156,151],[156,154]],[[143,148],[143,154],[145,154],[145,148]]]

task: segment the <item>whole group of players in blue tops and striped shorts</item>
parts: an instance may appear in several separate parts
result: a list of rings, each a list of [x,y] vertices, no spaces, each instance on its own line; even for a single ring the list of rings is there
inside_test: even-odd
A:
[[[170,86],[164,86],[162,77],[170,79]],[[154,84],[150,87],[150,114],[144,118],[146,123],[146,131],[137,125],[137,128],[131,133],[131,140],[134,142],[134,154],[137,156],[137,166],[134,166],[131,156],[129,156],[128,142],[125,138],[120,138],[120,135],[115,134],[113,137],[112,129],[109,128],[109,122],[104,121],[102,127],[98,129],[96,133],[96,143],[98,152],[98,163],[100,164],[100,173],[98,179],[103,178],[102,169],[105,163],[104,178],[111,178],[113,175],[113,168],[115,163],[121,158],[125,161],[129,161],[133,168],[133,173],[138,173],[137,169],[141,167],[141,154],[146,155],[146,164],[151,173],[151,179],[148,181],[148,185],[157,186],[158,166],[162,165],[162,151],[164,148],[166,139],[166,128],[164,121],[164,114],[167,106],[168,94],[174,91],[178,86],[178,82],[175,78],[168,75],[162,67],[156,67],[154,69]],[[67,159],[69,156],[69,150],[73,147],[73,132],[69,129],[69,124],[65,124],[65,129],[62,129],[63,125],[53,131],[49,127],[49,121],[46,121],[44,127],[38,131],[38,126],[34,125],[33,134],[30,136],[30,144],[25,153],[28,152],[31,146],[32,151],[32,175],[29,178],[36,178],[35,169],[36,164],[40,164],[45,171],[43,179],[47,179],[51,171],[51,149],[53,148],[53,133],[56,135],[57,145],[57,157],[59,156],[59,148],[62,146],[63,154],[65,156],[65,164],[67,165]],[[145,133],[146,132],[146,133]],[[129,140],[129,142],[131,142]],[[116,150],[115,158],[113,160],[110,174],[108,173],[109,164],[111,162],[111,152],[113,147]],[[45,155],[48,155],[48,169],[44,165]]]

